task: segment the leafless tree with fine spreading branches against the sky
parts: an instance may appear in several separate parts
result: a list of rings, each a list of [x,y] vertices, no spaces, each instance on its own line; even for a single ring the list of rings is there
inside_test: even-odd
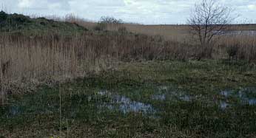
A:
[[[231,11],[229,7],[223,6],[216,0],[202,0],[201,3],[195,4],[187,24],[201,46],[210,46],[212,49],[212,38],[225,33],[228,24],[231,24]]]

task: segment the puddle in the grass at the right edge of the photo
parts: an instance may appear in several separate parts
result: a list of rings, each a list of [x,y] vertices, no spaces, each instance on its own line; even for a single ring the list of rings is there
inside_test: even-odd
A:
[[[224,91],[220,92],[220,95],[223,95],[226,98],[236,97],[244,105],[246,105],[246,104],[248,104],[249,106],[256,105],[256,88],[253,88],[253,87],[240,89],[240,91],[238,91],[238,92],[235,92],[232,90],[224,90]],[[223,103],[223,104],[225,104],[225,103]],[[220,102],[220,107],[226,108],[226,106],[221,105],[221,102]]]

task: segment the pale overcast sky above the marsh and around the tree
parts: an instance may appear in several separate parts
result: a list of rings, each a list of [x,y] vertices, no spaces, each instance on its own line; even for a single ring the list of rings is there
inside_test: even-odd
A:
[[[191,8],[200,0],[0,0],[1,9],[26,15],[73,13],[98,21],[113,16],[141,24],[185,24]],[[256,23],[256,0],[220,0],[235,9],[240,23]]]

